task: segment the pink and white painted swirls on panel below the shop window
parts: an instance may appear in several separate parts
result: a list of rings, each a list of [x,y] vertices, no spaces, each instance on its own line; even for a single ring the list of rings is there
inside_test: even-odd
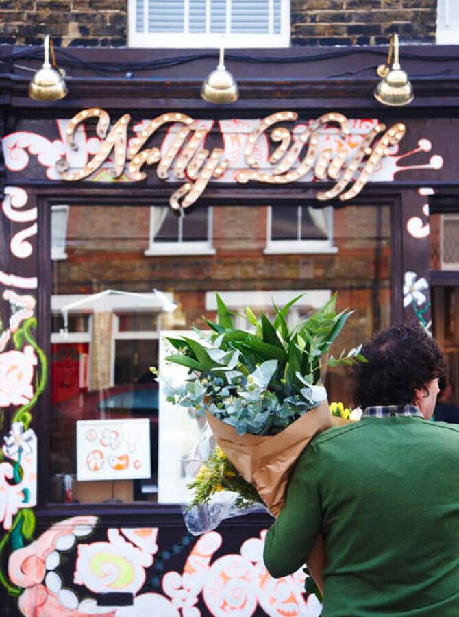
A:
[[[301,570],[282,579],[273,579],[266,571],[262,561],[266,530],[243,542],[239,553],[217,559],[214,554],[221,548],[222,536],[212,531],[199,537],[182,572],[162,575],[160,594],[151,591],[149,584],[151,566],[160,556],[158,528],[111,528],[106,540],[88,542],[96,524],[94,516],[63,520],[11,555],[10,576],[23,588],[19,607],[25,617],[101,614],[95,594],[114,590],[134,594],[134,603],[106,607],[105,617],[201,617],[199,599],[206,605],[206,614],[219,617],[250,617],[260,608],[272,617],[320,613],[315,596],[305,598]],[[67,555],[63,559],[69,559],[69,551],[75,548],[73,581],[64,582],[59,572],[62,553]]]

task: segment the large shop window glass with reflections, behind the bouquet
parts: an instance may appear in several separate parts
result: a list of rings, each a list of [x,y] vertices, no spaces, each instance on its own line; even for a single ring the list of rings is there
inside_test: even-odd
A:
[[[296,206],[283,210],[286,221],[297,221]],[[164,243],[177,243],[169,209],[69,207],[67,258],[52,261],[51,276],[53,502],[180,503],[181,458],[203,419],[167,402],[149,368],[175,382],[186,378],[186,370],[164,361],[165,336],[193,335],[194,324],[204,327],[202,315],[215,319],[215,290],[235,311],[235,325],[247,329],[247,305],[271,315],[273,302],[282,306],[303,294],[289,317],[293,327],[338,291],[339,308],[355,313],[337,354],[390,322],[389,206],[340,208],[333,213],[336,252],[304,254],[295,245],[298,251],[282,259],[266,252],[274,241],[267,206],[218,206],[210,216],[198,204],[194,212],[195,223],[185,218],[184,230],[190,225],[199,241],[209,233],[214,254],[164,250],[153,258],[145,254],[152,219],[164,219]],[[329,241],[328,230],[314,233]],[[352,404],[344,371],[329,370],[325,385],[330,400]]]

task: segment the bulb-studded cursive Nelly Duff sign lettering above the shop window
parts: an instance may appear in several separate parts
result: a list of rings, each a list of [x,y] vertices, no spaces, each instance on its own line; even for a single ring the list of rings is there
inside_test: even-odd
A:
[[[138,182],[147,177],[142,171],[145,165],[157,165],[158,178],[168,180],[173,168],[175,178],[184,180],[169,200],[174,210],[194,204],[212,179],[243,184],[249,180],[287,184],[306,177],[334,180],[334,186],[318,191],[316,198],[347,201],[362,191],[375,170],[384,166],[384,157],[405,134],[401,123],[386,129],[375,120],[349,121],[340,113],[327,113],[289,129],[278,123],[296,122],[298,114],[284,111],[255,123],[220,121],[221,126],[234,123],[232,139],[227,140],[223,132],[225,149],[214,147],[210,151],[204,146],[212,122],[206,125],[206,121],[171,112],[140,123],[135,136],[128,138],[129,114],[110,129],[108,113],[91,108],[76,114],[67,125],[65,140],[69,147],[77,149],[75,132],[90,119],[97,120],[99,149],[81,169],[69,168],[66,158],[60,158],[56,164],[60,177],[82,180],[110,164],[108,171],[113,178],[124,174],[125,179]],[[356,122],[360,123],[358,130],[354,130]],[[169,127],[162,147],[147,147],[151,136],[164,125]]]

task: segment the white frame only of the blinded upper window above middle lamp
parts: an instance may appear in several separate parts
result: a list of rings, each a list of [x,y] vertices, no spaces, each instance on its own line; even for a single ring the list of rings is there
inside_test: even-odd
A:
[[[231,0],[227,0],[228,6]],[[144,5],[144,27],[148,24],[147,0]],[[270,11],[272,14],[272,10]],[[188,28],[188,0],[184,0],[184,23]],[[210,32],[136,32],[136,0],[128,0],[128,47],[220,47],[222,33]],[[206,29],[210,28],[210,19],[206,16]],[[290,47],[290,0],[280,3],[280,34],[232,34],[229,32],[230,11],[227,8],[227,32],[225,32],[225,47],[255,48],[255,47]],[[271,29],[273,22],[271,19]]]

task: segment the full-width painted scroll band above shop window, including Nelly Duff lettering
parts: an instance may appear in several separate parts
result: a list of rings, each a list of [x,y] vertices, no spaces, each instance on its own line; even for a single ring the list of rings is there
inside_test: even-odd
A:
[[[134,125],[134,137],[130,137],[129,114],[111,125],[105,110],[90,108],[70,121],[58,120],[60,139],[51,141],[31,132],[6,136],[5,165],[11,171],[22,171],[33,154],[47,168],[49,179],[69,182],[86,178],[140,182],[146,178],[144,168],[156,165],[160,180],[185,180],[169,200],[174,210],[195,204],[211,181],[277,185],[332,180],[336,184],[318,191],[317,199],[347,201],[367,182],[393,180],[395,173],[404,169],[439,169],[443,165],[438,155],[422,165],[399,165],[401,158],[432,148],[430,141],[421,139],[417,149],[399,154],[403,123],[386,128],[375,119],[349,120],[330,112],[293,128],[279,125],[294,123],[297,118],[296,112],[286,111],[261,120],[220,121],[224,147],[210,151],[206,141],[213,121],[195,121],[186,114],[169,112]],[[96,136],[87,138],[90,120],[97,122]],[[166,129],[160,146],[146,147],[160,129]]]

